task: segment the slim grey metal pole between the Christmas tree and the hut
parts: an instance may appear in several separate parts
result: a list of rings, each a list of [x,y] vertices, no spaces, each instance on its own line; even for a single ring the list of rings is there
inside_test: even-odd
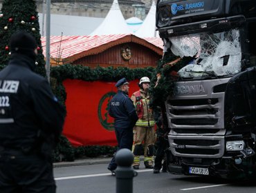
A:
[[[46,77],[50,83],[51,0],[46,0]]]

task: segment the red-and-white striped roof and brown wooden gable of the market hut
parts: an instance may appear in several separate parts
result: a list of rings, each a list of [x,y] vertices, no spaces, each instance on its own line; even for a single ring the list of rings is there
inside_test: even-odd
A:
[[[43,49],[45,45],[46,39],[42,37]],[[156,37],[142,39],[133,34],[51,37],[51,65],[156,67],[162,54],[163,42]]]

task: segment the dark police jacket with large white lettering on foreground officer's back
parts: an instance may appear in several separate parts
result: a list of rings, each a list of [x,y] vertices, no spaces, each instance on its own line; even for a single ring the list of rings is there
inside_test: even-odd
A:
[[[55,145],[62,132],[64,108],[34,68],[29,57],[12,54],[0,72],[0,147],[29,152],[40,140]]]

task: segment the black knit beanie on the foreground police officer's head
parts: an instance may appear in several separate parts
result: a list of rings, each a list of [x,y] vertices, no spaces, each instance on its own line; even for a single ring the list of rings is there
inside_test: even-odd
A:
[[[9,44],[11,53],[24,54],[33,60],[36,59],[34,50],[37,48],[37,41],[30,33],[19,31],[12,34]]]

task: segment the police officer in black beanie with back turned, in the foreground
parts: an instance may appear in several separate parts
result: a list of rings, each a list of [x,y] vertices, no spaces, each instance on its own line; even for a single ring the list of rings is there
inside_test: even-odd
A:
[[[37,43],[28,32],[10,38],[10,61],[0,72],[0,192],[55,192],[52,150],[64,108],[48,81],[33,72]]]

